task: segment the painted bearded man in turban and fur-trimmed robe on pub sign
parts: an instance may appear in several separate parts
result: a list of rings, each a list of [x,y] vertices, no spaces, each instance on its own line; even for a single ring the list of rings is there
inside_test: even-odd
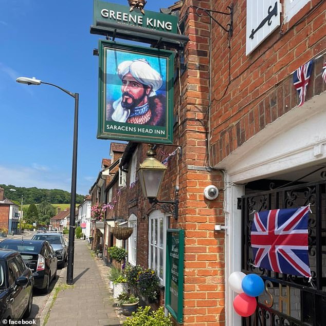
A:
[[[117,67],[121,81],[119,98],[106,104],[106,120],[164,126],[166,98],[158,93],[164,81],[146,58],[122,61]]]

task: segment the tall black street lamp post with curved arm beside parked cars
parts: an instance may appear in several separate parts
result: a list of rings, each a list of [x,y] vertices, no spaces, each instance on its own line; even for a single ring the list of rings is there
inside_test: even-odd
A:
[[[75,118],[74,118],[74,143],[73,143],[73,168],[71,172],[71,197],[70,197],[70,220],[69,220],[69,243],[68,243],[68,263],[67,263],[67,284],[73,284],[74,274],[74,245],[75,245],[75,213],[76,213],[76,179],[77,179],[77,143],[78,143],[78,101],[79,94],[70,92],[58,85],[45,83],[41,80],[28,77],[19,77],[17,83],[27,85],[46,84],[54,86],[70,95],[75,99]]]

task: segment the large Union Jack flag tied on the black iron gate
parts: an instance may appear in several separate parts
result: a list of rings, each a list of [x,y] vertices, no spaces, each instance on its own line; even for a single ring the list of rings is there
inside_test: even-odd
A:
[[[255,266],[277,273],[310,277],[308,216],[310,206],[255,213],[251,247]]]

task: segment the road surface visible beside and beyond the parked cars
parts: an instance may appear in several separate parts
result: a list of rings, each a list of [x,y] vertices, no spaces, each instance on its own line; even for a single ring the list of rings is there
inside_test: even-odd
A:
[[[24,239],[31,239],[32,236],[35,234],[36,232],[25,232],[23,237]],[[10,239],[20,239],[22,237],[22,235],[15,235],[15,236],[9,236],[8,238]],[[0,238],[0,241],[4,240],[6,238]],[[56,282],[58,281],[59,277],[61,274],[63,274],[65,272],[66,269],[66,264],[65,267],[63,269],[59,268],[58,272],[57,272],[57,277],[55,280],[53,280],[50,284],[50,291],[48,294],[43,294],[41,293],[41,291],[39,291],[38,289],[34,289],[33,290],[33,306],[32,306],[32,312],[30,314],[29,318],[38,318],[40,317],[40,315],[42,314],[44,307],[47,303],[47,300],[49,299],[49,296],[53,290],[53,287],[56,285]]]

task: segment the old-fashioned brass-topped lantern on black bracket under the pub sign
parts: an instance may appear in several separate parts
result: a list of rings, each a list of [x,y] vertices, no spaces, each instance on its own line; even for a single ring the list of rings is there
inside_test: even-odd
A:
[[[179,187],[175,187],[175,200],[174,201],[162,201],[157,200],[159,190],[165,175],[167,167],[159,162],[154,156],[156,155],[153,145],[150,145],[150,149],[147,152],[147,158],[139,164],[137,171],[138,179],[141,185],[141,189],[144,197],[149,199],[150,204],[153,206],[158,205],[166,213],[174,215],[174,218],[178,219],[178,192]]]

